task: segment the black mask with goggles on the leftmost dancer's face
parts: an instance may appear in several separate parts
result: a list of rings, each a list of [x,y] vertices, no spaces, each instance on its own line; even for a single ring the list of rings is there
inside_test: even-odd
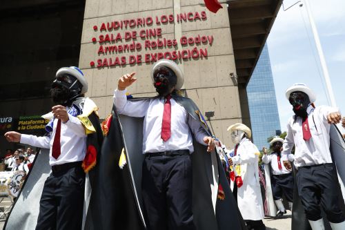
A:
[[[81,88],[81,83],[76,77],[66,74],[55,78],[50,95],[55,104],[70,106],[79,97]]]

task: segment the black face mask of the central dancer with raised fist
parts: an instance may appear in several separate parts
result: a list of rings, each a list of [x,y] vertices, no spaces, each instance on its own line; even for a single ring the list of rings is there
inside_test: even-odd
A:
[[[153,79],[157,93],[161,97],[168,95],[177,84],[177,77],[170,68],[161,66],[153,73]]]

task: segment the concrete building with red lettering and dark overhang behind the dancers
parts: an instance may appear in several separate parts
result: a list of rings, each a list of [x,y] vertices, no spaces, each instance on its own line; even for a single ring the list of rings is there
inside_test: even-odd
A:
[[[50,84],[62,66],[79,66],[86,96],[104,119],[117,79],[137,73],[134,97],[156,95],[152,64],[173,59],[185,75],[184,95],[232,146],[226,128],[250,126],[246,84],[282,0],[233,0],[210,12],[204,0],[8,1],[0,6],[0,135],[41,135],[52,107]],[[214,112],[214,113],[213,113]],[[3,151],[18,144],[0,140]]]

